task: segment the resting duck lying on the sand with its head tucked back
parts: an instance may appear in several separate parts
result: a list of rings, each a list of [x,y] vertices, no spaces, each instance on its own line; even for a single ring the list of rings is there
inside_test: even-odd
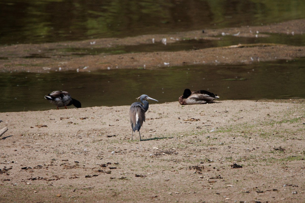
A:
[[[179,103],[181,105],[213,103],[213,100],[218,98],[219,96],[217,94],[210,93],[206,90],[191,92],[190,89],[185,89],[183,95],[179,97]]]

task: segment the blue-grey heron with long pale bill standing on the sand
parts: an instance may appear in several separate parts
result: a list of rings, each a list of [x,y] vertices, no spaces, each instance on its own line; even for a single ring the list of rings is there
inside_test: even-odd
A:
[[[140,128],[143,124],[143,121],[145,121],[145,112],[148,110],[148,101],[146,100],[155,100],[151,97],[147,96],[146,94],[142,94],[136,99],[140,99],[140,102],[132,103],[129,109],[129,118],[130,118],[130,124],[132,128],[131,132],[131,140],[133,132],[136,130],[139,132],[140,135],[140,141],[141,141],[141,134],[140,134]],[[158,101],[158,100],[155,100]],[[144,104],[144,105],[142,105]]]

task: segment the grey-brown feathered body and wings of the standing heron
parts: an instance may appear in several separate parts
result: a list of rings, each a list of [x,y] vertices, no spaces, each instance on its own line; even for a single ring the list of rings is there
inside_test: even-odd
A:
[[[140,102],[131,104],[129,110],[130,124],[133,131],[139,131],[145,121],[145,109]]]

